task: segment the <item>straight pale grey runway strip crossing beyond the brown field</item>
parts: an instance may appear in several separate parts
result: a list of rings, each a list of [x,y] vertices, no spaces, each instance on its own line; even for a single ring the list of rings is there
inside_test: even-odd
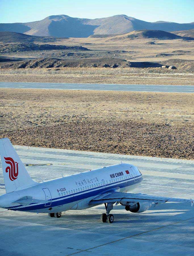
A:
[[[183,86],[183,85],[145,85],[145,84],[139,85],[139,84],[70,84],[70,83],[0,82],[0,88],[194,93],[194,86],[190,86],[190,85]]]

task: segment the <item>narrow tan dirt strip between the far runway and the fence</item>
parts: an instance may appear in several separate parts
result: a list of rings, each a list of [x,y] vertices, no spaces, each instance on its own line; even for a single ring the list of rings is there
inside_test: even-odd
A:
[[[165,77],[164,77],[165,76]],[[0,82],[61,82],[61,83],[102,83],[102,84],[156,84],[156,85],[194,85],[193,77],[171,75],[0,75]]]

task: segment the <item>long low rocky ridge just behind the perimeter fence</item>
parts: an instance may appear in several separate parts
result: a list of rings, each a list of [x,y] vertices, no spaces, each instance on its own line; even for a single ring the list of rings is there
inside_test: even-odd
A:
[[[95,58],[95,59],[57,59],[57,58],[40,58],[40,59],[28,59],[23,61],[8,59],[0,60],[0,68],[11,68],[11,69],[25,69],[25,68],[59,68],[64,67],[106,67],[106,68],[125,68],[125,67],[135,67],[135,68],[161,68],[163,65],[175,66],[177,69],[182,70],[194,70],[194,61],[186,59],[169,59],[160,62],[148,62],[148,61],[126,61],[124,59],[116,58]]]

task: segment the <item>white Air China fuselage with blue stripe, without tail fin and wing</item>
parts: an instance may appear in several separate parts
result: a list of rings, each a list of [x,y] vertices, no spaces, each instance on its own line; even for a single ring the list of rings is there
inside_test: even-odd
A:
[[[7,193],[0,197],[0,207],[26,212],[62,212],[81,210],[94,205],[90,201],[109,191],[128,192],[137,188],[143,180],[137,167],[131,164],[117,164],[53,179]],[[12,202],[22,197],[46,200],[47,203],[18,205]]]

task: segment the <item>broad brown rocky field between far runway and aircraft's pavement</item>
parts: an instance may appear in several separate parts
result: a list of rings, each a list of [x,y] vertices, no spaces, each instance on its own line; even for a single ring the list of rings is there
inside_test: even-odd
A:
[[[0,89],[0,137],[25,146],[194,159],[193,103],[186,93]]]

